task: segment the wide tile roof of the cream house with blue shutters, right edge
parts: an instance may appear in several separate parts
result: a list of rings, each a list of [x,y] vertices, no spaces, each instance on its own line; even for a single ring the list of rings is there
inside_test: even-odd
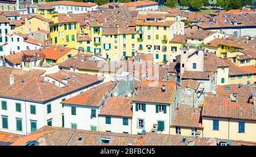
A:
[[[232,102],[228,97],[218,96],[205,97],[202,116],[256,120],[253,104]]]

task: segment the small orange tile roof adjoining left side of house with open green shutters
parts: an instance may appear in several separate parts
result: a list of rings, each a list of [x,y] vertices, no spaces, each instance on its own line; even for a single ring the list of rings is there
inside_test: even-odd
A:
[[[99,116],[133,117],[131,97],[110,97],[102,107]]]

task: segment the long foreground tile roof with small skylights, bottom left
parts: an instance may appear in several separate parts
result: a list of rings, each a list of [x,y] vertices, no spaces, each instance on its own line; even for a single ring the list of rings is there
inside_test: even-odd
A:
[[[82,138],[81,141],[78,140],[79,138]],[[102,143],[101,138],[110,138],[110,142]],[[139,138],[141,135],[44,126],[12,146],[23,146],[28,141],[38,141],[39,146],[127,146],[135,143]]]

